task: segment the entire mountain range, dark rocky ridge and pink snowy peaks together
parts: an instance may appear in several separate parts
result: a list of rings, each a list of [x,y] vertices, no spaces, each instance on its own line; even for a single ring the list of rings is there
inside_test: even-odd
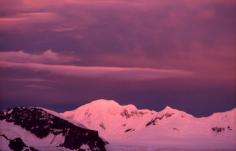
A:
[[[235,129],[236,108],[197,118],[169,106],[154,111],[100,99],[63,113],[39,107],[2,111],[0,150],[14,150],[10,144],[18,138],[32,151],[233,151]]]

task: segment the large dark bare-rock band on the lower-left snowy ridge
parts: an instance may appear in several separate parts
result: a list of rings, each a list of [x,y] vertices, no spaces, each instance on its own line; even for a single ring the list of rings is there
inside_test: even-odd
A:
[[[105,142],[98,136],[97,131],[78,127],[64,119],[54,116],[41,108],[15,107],[0,112],[0,120],[19,125],[30,131],[38,138],[44,138],[50,133],[62,134],[65,140],[60,146],[79,150],[87,144],[91,151],[105,151]]]

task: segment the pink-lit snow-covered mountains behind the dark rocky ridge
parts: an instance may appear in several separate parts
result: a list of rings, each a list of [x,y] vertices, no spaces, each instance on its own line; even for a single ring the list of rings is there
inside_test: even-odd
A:
[[[157,112],[113,100],[96,100],[61,115],[97,130],[110,142],[112,151],[142,147],[236,150],[236,108],[196,118],[171,107]]]

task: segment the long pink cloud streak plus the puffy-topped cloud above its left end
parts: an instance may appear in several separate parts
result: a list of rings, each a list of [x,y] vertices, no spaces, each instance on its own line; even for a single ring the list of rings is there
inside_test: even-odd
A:
[[[78,78],[153,80],[184,78],[193,75],[193,72],[175,69],[61,65],[75,60],[77,61],[77,58],[60,55],[52,50],[47,50],[41,54],[30,54],[24,51],[0,52],[1,68],[41,71]]]

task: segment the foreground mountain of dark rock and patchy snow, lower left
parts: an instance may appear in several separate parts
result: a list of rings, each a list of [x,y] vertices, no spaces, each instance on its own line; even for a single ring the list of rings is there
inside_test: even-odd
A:
[[[0,112],[1,151],[105,151],[98,132],[37,107]]]

